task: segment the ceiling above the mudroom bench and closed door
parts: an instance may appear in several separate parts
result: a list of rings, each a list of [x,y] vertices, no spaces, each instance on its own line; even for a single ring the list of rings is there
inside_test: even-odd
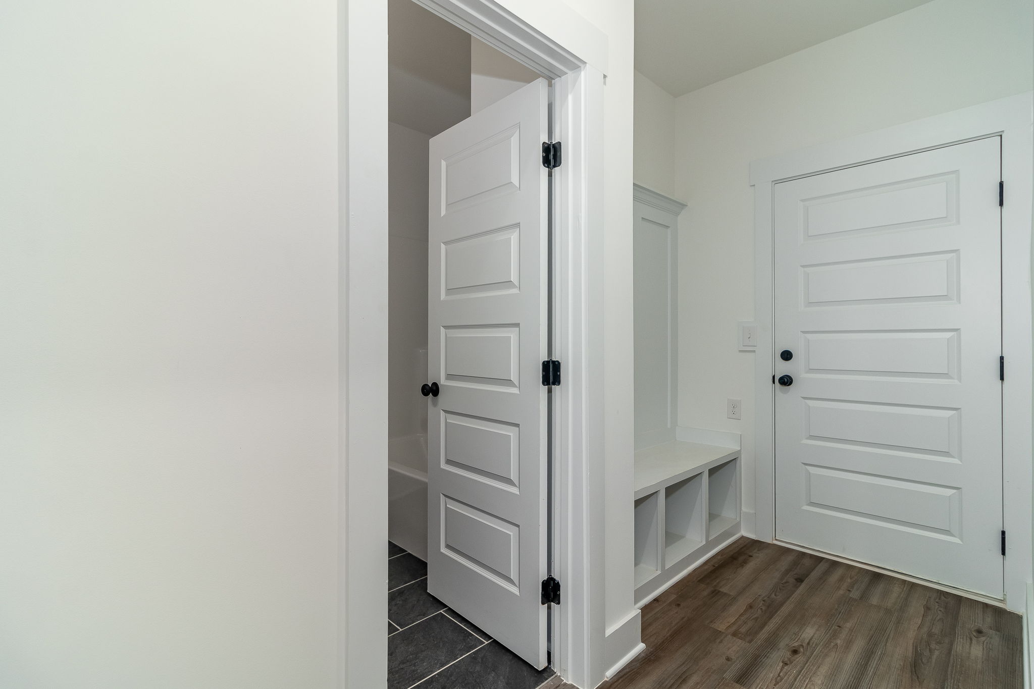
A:
[[[636,69],[673,96],[930,0],[636,0]]]

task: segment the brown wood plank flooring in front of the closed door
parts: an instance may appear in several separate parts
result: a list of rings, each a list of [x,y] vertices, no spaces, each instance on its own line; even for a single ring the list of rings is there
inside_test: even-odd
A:
[[[605,689],[1020,689],[1021,618],[741,538],[642,610]]]

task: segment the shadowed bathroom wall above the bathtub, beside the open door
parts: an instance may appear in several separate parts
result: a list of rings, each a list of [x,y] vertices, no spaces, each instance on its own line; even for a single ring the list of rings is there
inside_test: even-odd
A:
[[[427,433],[427,147],[388,125],[388,436]]]

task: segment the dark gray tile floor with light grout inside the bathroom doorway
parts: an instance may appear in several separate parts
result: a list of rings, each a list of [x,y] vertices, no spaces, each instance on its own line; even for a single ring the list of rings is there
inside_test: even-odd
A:
[[[537,670],[427,593],[427,565],[388,543],[388,689],[536,689]]]

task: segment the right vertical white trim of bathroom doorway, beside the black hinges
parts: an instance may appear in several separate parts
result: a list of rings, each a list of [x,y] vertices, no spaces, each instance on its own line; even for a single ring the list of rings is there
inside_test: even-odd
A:
[[[553,351],[564,384],[553,396],[553,562],[564,604],[553,613],[553,668],[595,687],[606,669],[603,496],[603,73],[591,66],[553,83]],[[559,460],[559,461],[557,461]]]

